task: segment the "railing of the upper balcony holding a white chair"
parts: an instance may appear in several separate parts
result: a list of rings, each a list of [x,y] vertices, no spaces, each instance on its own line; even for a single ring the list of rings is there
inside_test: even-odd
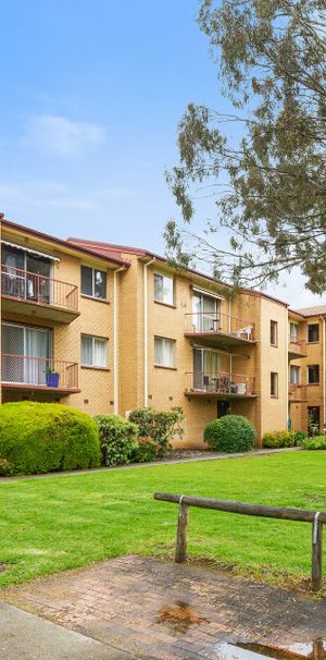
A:
[[[224,334],[254,341],[254,323],[221,311],[199,311],[186,314],[186,333]]]

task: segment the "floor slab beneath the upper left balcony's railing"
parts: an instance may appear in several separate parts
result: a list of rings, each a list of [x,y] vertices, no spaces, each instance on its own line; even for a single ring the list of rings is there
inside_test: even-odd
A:
[[[26,301],[25,298],[7,295],[2,295],[1,298],[2,311],[11,314],[22,314],[30,317],[37,316],[37,318],[48,319],[58,323],[71,323],[79,316],[79,311],[76,311],[75,309],[58,307],[55,305],[49,305],[48,303],[39,303],[33,300]]]

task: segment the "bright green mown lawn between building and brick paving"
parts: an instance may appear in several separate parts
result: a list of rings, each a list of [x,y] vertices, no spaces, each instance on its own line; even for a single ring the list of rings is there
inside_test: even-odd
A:
[[[129,553],[173,557],[177,506],[155,490],[326,510],[326,452],[0,484],[0,586]],[[269,583],[309,577],[311,525],[190,510],[189,553]],[[326,567],[326,566],[325,566]]]

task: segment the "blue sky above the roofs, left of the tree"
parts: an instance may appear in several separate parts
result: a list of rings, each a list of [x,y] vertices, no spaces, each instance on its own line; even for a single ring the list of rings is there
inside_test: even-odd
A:
[[[187,102],[225,110],[198,0],[0,0],[0,209],[61,237],[164,253]],[[218,235],[224,242],[224,236]],[[319,301],[299,278],[271,293]]]

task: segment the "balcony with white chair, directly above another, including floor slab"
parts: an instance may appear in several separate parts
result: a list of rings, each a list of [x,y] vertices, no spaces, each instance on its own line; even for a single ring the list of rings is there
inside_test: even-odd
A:
[[[250,345],[256,341],[254,323],[221,311],[186,314],[185,337],[200,338],[201,343],[222,347]]]

